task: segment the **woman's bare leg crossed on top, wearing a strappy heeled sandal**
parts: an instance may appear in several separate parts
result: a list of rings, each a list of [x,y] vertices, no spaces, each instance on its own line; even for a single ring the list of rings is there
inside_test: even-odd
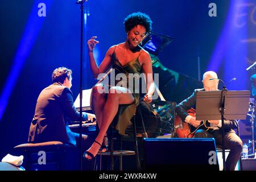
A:
[[[133,103],[134,97],[126,88],[120,86],[113,86],[112,88],[110,88],[108,93],[108,99],[103,109],[100,132],[95,139],[98,143],[102,143],[102,140],[104,139],[104,135],[108,130],[110,123],[113,121],[115,115],[117,114],[118,105]],[[93,156],[96,156],[98,150],[100,150],[101,146],[98,143],[94,142],[89,150],[87,150]],[[90,156],[85,155],[85,158],[90,159]]]

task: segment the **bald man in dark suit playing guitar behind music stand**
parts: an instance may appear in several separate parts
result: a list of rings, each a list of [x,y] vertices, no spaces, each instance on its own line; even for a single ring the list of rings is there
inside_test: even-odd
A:
[[[176,113],[179,117],[184,121],[189,123],[194,127],[198,127],[201,121],[196,121],[196,117],[192,117],[187,113],[187,111],[191,108],[196,107],[196,93],[198,91],[212,91],[218,90],[218,80],[209,80],[209,78],[218,78],[217,74],[212,71],[208,71],[204,73],[203,76],[203,89],[196,89],[193,94],[185,99],[184,101],[180,102],[176,106]],[[216,141],[216,145],[222,144],[222,137],[221,137],[221,120],[210,120],[210,127],[213,130],[206,131],[204,129],[199,129],[196,131],[194,137],[196,138],[214,138]],[[229,171],[233,171],[236,168],[236,164],[240,158],[242,152],[242,140],[237,136],[233,129],[238,127],[238,123],[236,120],[233,121],[224,121],[224,129],[225,129],[225,136],[224,136],[224,144],[226,148],[230,149],[228,158],[226,159],[226,169]]]

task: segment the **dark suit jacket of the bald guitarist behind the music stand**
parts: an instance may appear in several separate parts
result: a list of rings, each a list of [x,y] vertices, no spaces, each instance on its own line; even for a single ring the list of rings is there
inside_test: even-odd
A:
[[[180,104],[176,106],[175,111],[183,121],[185,121],[185,118],[189,115],[187,113],[189,109],[191,108],[196,109],[196,93],[198,91],[204,91],[204,89],[195,89],[195,91],[190,97],[180,102]],[[237,126],[238,124],[236,120],[230,120],[230,121],[224,120],[225,131],[231,131],[231,129],[236,129]]]

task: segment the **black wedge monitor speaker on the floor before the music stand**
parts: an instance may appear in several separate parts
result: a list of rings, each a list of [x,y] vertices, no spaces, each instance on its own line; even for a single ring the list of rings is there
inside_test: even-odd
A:
[[[214,138],[144,138],[143,169],[219,170]]]

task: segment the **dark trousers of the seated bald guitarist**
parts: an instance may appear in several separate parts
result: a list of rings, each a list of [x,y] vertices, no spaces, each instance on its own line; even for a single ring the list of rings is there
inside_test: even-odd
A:
[[[213,130],[212,132],[208,132],[205,130],[197,130],[194,137],[195,138],[214,138],[216,145],[222,146],[221,130]],[[224,147],[230,150],[229,155],[226,158],[226,170],[234,171],[242,152],[242,148],[243,148],[242,140],[237,136],[237,134],[233,130],[230,132],[225,132]]]

